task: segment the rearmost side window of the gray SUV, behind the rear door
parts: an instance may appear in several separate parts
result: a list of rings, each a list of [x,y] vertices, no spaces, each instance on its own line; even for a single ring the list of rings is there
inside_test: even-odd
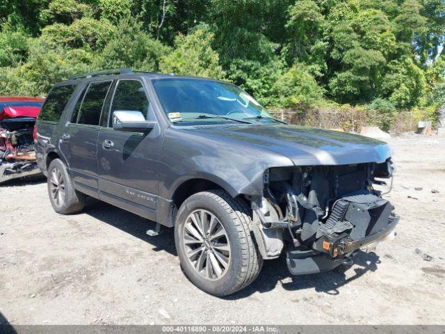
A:
[[[65,85],[53,87],[47,100],[42,106],[39,113],[39,120],[46,120],[48,122],[58,122],[62,116],[63,109],[67,105],[72,93],[76,89],[76,85]]]

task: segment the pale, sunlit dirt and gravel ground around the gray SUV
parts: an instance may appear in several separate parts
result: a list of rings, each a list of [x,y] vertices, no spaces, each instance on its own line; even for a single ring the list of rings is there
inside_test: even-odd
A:
[[[389,143],[398,170],[387,198],[401,216],[394,241],[312,276],[268,261],[225,299],[187,280],[172,230],[149,237],[154,223],[99,201],[58,215],[44,181],[0,186],[0,322],[445,324],[445,138]]]

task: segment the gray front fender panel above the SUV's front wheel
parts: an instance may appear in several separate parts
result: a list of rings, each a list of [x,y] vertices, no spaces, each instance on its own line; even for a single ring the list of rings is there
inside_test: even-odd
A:
[[[282,166],[293,163],[268,150],[235,148],[190,133],[171,131],[163,145],[159,193],[170,199],[180,184],[199,178],[218,184],[232,197],[262,196],[264,170]]]

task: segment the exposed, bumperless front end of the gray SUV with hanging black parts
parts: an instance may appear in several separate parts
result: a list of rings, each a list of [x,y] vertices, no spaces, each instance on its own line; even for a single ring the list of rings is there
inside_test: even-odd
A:
[[[398,216],[374,185],[391,179],[382,164],[296,166],[264,173],[264,196],[252,198],[252,230],[264,259],[280,256],[293,275],[352,264],[352,255],[394,233]],[[390,189],[389,189],[390,190]]]

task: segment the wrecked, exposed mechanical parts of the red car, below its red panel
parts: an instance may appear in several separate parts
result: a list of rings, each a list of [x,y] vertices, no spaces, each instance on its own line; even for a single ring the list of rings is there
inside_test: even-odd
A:
[[[40,173],[35,159],[34,125],[35,118],[0,120],[0,183]]]

